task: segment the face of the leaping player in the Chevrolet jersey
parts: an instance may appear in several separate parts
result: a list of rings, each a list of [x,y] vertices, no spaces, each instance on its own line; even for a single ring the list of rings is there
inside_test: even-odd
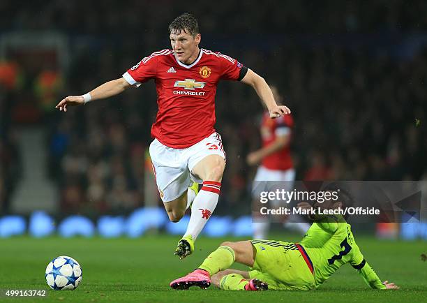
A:
[[[181,31],[170,34],[170,45],[172,45],[172,50],[174,50],[179,61],[183,64],[191,64],[199,55],[200,39],[200,34],[193,37],[191,34]]]

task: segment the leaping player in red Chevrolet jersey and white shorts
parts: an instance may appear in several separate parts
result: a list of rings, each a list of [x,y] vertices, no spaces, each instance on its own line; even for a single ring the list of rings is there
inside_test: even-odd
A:
[[[220,80],[250,85],[264,102],[271,118],[289,114],[278,106],[264,78],[236,59],[199,47],[201,35],[195,17],[184,13],[169,26],[172,49],[153,52],[122,77],[101,84],[82,96],[68,96],[56,106],[67,106],[120,94],[153,79],[158,113],[149,147],[156,184],[170,221],[178,222],[191,208],[186,233],[175,254],[185,258],[218,203],[225,169],[225,151],[215,131],[215,94]],[[198,184],[202,184],[199,190]]]

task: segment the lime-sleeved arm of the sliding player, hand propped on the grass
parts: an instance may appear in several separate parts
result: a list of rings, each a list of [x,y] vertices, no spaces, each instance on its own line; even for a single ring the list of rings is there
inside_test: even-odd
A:
[[[350,264],[354,269],[359,272],[359,274],[362,276],[366,284],[370,288],[373,289],[398,289],[398,286],[396,286],[394,283],[389,283],[389,281],[384,281],[384,283],[380,280],[380,278],[377,276],[375,271],[372,267],[366,262],[364,256],[359,250],[359,247],[356,246],[352,248],[357,249],[354,253],[354,257],[350,261]]]

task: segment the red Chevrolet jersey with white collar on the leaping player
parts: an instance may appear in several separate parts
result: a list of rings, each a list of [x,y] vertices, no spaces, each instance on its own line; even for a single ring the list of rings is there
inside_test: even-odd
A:
[[[123,77],[139,86],[156,81],[158,112],[151,136],[163,145],[186,148],[215,132],[215,94],[219,80],[241,80],[246,68],[219,52],[200,49],[193,64],[178,61],[172,50],[153,52]]]

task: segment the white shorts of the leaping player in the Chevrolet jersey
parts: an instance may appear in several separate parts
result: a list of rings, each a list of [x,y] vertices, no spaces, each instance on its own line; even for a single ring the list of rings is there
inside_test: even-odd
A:
[[[219,133],[213,133],[195,145],[183,149],[167,147],[157,139],[151,142],[151,163],[163,202],[179,198],[193,181],[203,183],[203,180],[190,172],[200,160],[209,155],[218,155],[225,160],[223,140]]]

